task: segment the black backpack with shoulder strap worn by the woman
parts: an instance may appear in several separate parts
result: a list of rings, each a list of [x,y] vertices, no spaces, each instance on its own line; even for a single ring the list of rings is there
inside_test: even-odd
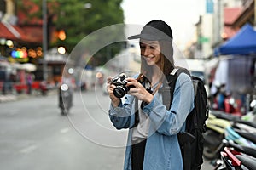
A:
[[[204,82],[199,77],[190,76],[187,69],[175,68],[170,75],[166,76],[166,82],[163,82],[163,88],[159,92],[163,97],[163,104],[166,109],[170,109],[172,97],[180,73],[186,73],[191,77],[195,90],[195,108],[189,113],[186,119],[186,129],[183,133],[178,133],[178,142],[183,156],[184,170],[201,169],[203,163],[203,133],[206,132],[206,120],[208,118],[207,92]],[[169,92],[167,92],[169,91]]]

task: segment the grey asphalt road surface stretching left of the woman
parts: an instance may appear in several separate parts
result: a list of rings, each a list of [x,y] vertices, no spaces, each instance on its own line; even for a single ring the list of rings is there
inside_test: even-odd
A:
[[[69,116],[57,105],[56,94],[0,104],[1,169],[122,169],[127,131],[109,122],[108,96],[76,92]]]

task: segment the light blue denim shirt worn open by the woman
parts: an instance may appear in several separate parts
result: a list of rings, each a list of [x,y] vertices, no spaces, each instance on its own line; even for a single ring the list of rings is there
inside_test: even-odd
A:
[[[125,150],[124,169],[131,170],[131,134],[135,122],[134,96],[125,95],[125,102],[113,108],[109,117],[117,129],[129,128]],[[170,110],[162,104],[162,96],[143,107],[143,113],[150,118],[148,138],[145,147],[143,170],[183,169],[183,160],[177,140],[177,133],[184,130],[186,117],[194,108],[194,88],[191,78],[181,73],[177,78]]]

